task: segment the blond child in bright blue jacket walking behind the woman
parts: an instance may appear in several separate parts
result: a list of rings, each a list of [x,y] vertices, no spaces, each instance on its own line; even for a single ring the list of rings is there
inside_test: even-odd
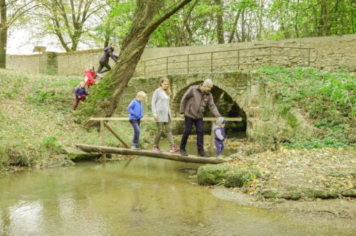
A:
[[[129,112],[129,121],[134,128],[134,139],[132,140],[131,149],[139,150],[139,125],[141,118],[144,116],[144,106],[142,102],[146,100],[146,94],[144,91],[137,93],[135,99],[133,99],[129,106],[127,106],[127,112]]]

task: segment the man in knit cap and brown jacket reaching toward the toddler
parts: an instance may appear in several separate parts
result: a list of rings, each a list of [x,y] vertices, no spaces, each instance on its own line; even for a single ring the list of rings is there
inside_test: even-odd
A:
[[[210,112],[215,117],[221,117],[210,90],[213,86],[210,78],[207,78],[201,85],[193,85],[189,87],[187,92],[180,101],[180,117],[184,117],[185,131],[183,133],[182,141],[180,142],[180,155],[187,156],[185,145],[188,137],[192,133],[192,125],[194,123],[196,128],[196,144],[198,146],[198,156],[208,158],[209,156],[204,151],[203,146],[203,112],[208,106]]]

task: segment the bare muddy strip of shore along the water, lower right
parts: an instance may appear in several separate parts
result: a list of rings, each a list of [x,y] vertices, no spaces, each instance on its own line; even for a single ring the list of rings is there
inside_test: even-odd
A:
[[[317,199],[314,201],[273,199],[257,200],[254,196],[243,194],[238,189],[212,187],[212,195],[225,201],[232,201],[238,205],[255,206],[269,210],[281,210],[302,223],[328,225],[336,228],[350,228],[356,230],[356,200]]]

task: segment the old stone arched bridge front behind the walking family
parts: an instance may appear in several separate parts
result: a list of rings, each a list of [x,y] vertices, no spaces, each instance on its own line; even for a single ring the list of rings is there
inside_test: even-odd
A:
[[[171,81],[173,116],[179,116],[180,100],[189,86],[211,78],[215,85],[212,94],[217,108],[225,117],[242,117],[247,140],[285,142],[296,134],[311,133],[311,128],[302,115],[279,103],[273,87],[257,73],[180,74],[167,77]],[[116,115],[127,116],[127,105],[142,90],[148,95],[144,105],[145,116],[151,116],[150,100],[159,86],[160,78],[162,77],[132,78],[121,97]],[[206,116],[211,115],[207,113]],[[182,131],[182,126],[177,125],[176,133]]]

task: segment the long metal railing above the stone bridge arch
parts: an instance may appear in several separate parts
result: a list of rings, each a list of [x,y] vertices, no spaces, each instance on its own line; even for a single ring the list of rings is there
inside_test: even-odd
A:
[[[309,47],[254,47],[205,53],[189,53],[142,60],[143,76],[239,71],[261,65],[310,66],[318,51]]]

